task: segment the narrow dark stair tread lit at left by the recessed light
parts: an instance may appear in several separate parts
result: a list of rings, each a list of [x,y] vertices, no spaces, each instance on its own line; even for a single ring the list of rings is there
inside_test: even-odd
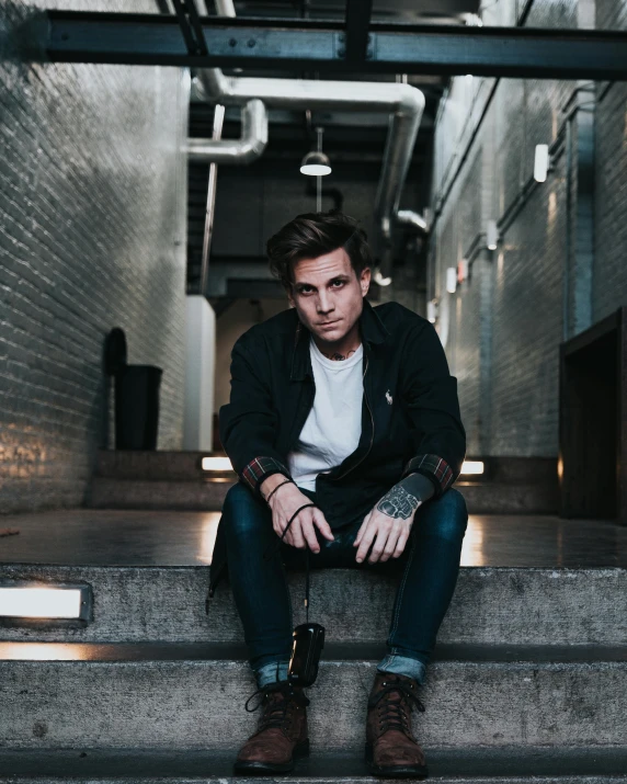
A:
[[[0,643],[0,661],[246,661],[243,643]],[[322,660],[377,661],[385,645],[327,641]],[[600,663],[627,662],[627,645],[438,644],[433,661],[467,663]]]

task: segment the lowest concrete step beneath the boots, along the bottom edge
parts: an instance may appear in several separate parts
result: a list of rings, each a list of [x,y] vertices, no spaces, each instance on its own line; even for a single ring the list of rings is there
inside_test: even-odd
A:
[[[625,784],[627,749],[593,746],[547,749],[544,747],[425,748],[429,781],[438,784]],[[205,750],[92,749],[0,750],[1,784],[189,784],[219,780],[221,784],[249,784],[232,775],[237,749],[227,753]],[[329,753],[312,749],[298,760],[293,773],[281,776],[290,784],[375,784],[363,755]]]

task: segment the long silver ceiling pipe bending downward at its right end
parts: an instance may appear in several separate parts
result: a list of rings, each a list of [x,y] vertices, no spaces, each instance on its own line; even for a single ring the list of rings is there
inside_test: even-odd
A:
[[[216,0],[216,12],[218,16],[235,16],[232,0]],[[233,78],[225,77],[219,68],[203,68],[197,72],[196,94],[225,105],[241,106],[256,98],[277,109],[388,113],[389,130],[374,212],[379,226],[380,277],[391,275],[394,225],[400,221],[418,228],[415,221],[397,217],[424,111],[424,95],[418,88],[398,82]],[[409,215],[411,211],[401,212]]]

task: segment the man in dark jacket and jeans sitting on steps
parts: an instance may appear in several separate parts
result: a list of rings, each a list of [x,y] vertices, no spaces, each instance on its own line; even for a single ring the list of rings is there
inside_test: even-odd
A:
[[[228,563],[264,708],[235,769],[285,772],[308,752],[309,700],[287,680],[284,573],[308,548],[312,567],[399,573],[388,652],[368,700],[366,760],[375,775],[425,775],[411,708],[424,709],[417,692],[468,520],[451,487],[466,452],[457,379],[426,319],[365,299],[372,257],[352,218],[299,215],[269,240],[267,253],[292,308],[238,339],[230,401],[219,411],[240,481],[223,507],[209,595]],[[306,503],[314,505],[298,512]]]

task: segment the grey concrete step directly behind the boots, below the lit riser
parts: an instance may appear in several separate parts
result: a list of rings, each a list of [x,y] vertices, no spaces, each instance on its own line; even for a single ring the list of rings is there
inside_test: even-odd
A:
[[[244,709],[255,688],[241,648],[18,647],[18,658],[0,661],[3,747],[228,751],[256,726],[259,714]],[[308,690],[315,749],[363,748],[380,654],[380,646],[326,647]],[[626,679],[625,646],[460,647],[432,662],[414,730],[428,747],[626,746]]]

